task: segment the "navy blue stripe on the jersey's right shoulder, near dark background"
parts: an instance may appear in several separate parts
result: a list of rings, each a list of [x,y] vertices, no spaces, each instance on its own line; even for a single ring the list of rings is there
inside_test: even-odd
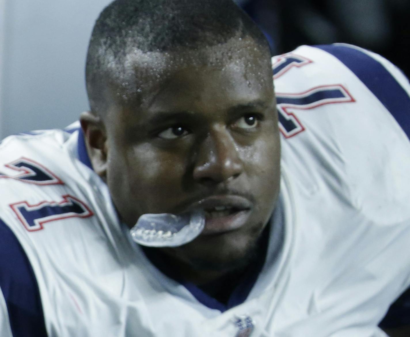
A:
[[[389,110],[410,140],[410,98],[387,69],[359,49],[343,45],[315,46],[337,57]]]

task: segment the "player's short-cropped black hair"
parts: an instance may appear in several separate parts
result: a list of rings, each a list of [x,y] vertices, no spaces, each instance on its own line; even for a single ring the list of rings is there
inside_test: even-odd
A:
[[[195,50],[223,45],[235,36],[251,37],[270,53],[264,34],[232,0],[115,0],[101,12],[89,42],[86,83],[91,110],[101,110],[102,83],[110,78],[109,71],[124,71],[132,50]]]

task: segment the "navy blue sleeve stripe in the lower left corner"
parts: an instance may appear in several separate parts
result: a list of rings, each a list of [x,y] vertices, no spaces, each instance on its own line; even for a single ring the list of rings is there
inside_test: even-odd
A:
[[[0,288],[13,337],[47,336],[40,291],[20,242],[0,219]]]

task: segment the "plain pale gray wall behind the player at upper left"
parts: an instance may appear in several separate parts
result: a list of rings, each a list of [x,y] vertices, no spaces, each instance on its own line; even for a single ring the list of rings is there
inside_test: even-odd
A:
[[[0,0],[0,139],[62,128],[88,109],[84,62],[110,0]]]

